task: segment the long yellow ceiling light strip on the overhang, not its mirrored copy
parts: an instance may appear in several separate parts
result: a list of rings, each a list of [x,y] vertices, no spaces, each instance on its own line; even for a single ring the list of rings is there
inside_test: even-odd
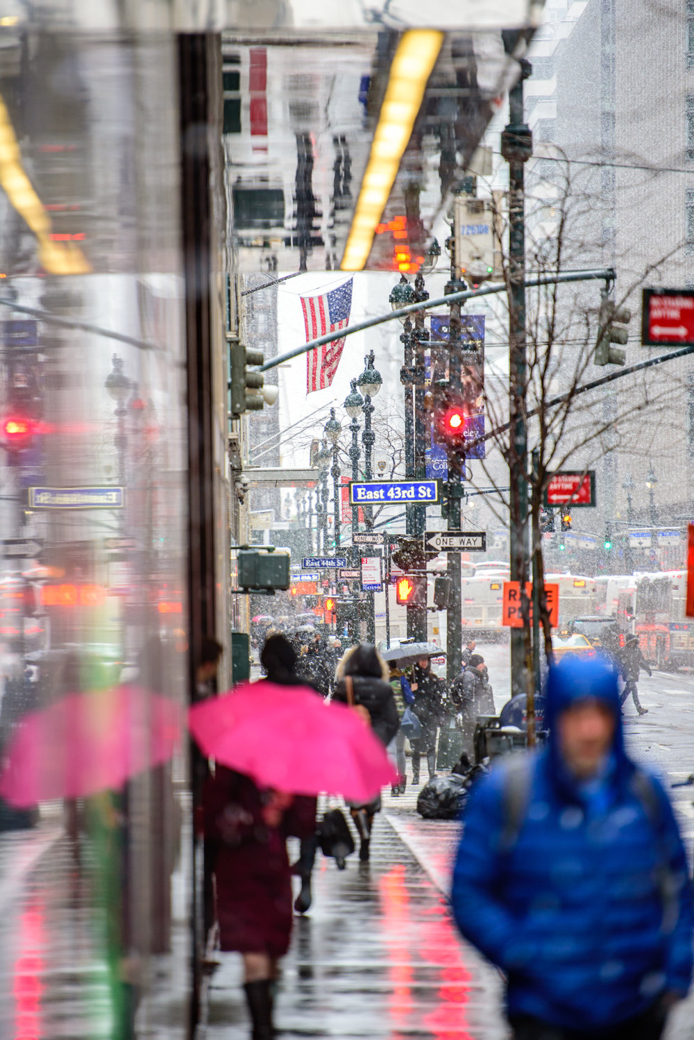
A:
[[[443,43],[443,32],[410,29],[398,44],[342,258],[343,270],[364,269]]]

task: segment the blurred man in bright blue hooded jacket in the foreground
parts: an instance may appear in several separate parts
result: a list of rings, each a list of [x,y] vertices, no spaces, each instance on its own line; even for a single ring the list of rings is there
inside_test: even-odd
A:
[[[517,1040],[657,1040],[692,973],[677,825],[624,751],[608,667],[566,657],[546,697],[543,752],[473,788],[455,918],[505,972]]]

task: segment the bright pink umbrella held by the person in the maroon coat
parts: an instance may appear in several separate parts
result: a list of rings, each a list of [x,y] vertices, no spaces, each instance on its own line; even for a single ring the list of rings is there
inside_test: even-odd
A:
[[[194,704],[188,725],[206,755],[261,787],[364,803],[397,783],[383,745],[359,716],[306,686],[244,682]]]

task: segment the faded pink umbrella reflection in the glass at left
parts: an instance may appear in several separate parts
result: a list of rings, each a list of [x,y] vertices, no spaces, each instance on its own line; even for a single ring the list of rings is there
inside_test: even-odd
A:
[[[26,808],[122,787],[171,758],[181,722],[174,701],[139,686],[69,694],[22,720],[7,748],[0,796]]]

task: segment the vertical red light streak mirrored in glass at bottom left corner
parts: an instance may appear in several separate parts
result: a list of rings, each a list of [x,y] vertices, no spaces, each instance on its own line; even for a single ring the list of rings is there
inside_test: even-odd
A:
[[[20,914],[18,934],[20,955],[15,961],[12,996],[15,997],[14,1040],[39,1040],[42,1032],[41,981],[45,961],[44,907],[34,901]]]

